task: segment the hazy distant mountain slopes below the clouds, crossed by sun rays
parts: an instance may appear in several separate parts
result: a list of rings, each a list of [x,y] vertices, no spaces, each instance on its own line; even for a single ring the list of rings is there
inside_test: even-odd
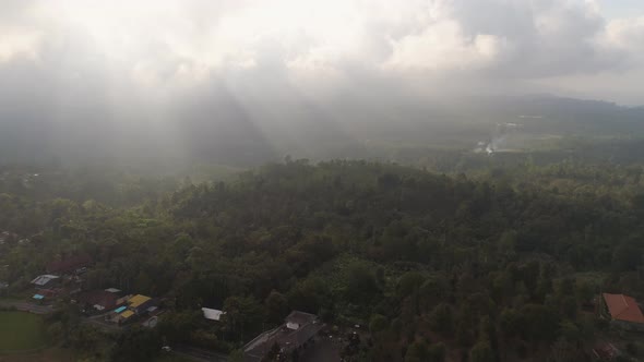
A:
[[[195,99],[158,125],[106,114],[56,122],[0,111],[0,162],[57,157],[93,161],[213,161],[259,165],[294,157],[362,157],[365,144],[467,148],[498,123],[527,132],[581,136],[644,135],[644,107],[551,95],[463,96],[449,101],[380,93],[325,106],[300,98],[263,105],[225,94]],[[119,124],[122,122],[122,124]],[[158,129],[157,129],[158,128]]]

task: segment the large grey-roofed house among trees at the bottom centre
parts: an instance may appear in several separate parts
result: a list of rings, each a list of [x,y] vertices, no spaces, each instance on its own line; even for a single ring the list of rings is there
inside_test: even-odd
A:
[[[293,311],[282,326],[264,331],[248,342],[243,347],[243,360],[262,361],[275,345],[279,347],[279,353],[290,358],[294,351],[307,348],[323,327],[317,315]]]

